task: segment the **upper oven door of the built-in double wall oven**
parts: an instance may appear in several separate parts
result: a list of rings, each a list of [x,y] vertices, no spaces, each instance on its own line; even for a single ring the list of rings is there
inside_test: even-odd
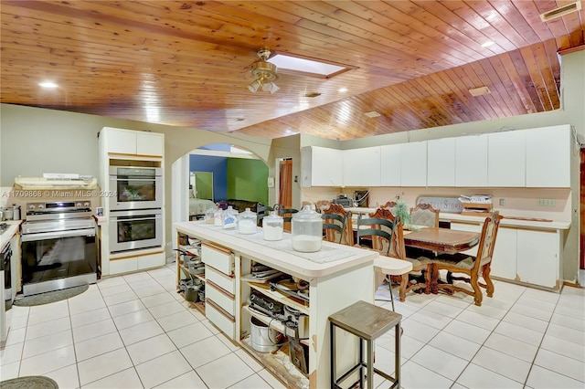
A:
[[[110,166],[110,210],[163,207],[160,167]]]

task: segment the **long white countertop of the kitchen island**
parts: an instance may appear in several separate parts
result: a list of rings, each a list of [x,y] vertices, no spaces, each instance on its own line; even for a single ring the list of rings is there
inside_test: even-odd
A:
[[[373,264],[378,257],[376,251],[350,247],[324,241],[316,253],[293,251],[292,235],[284,233],[281,241],[263,240],[262,229],[255,234],[243,235],[237,230],[226,230],[204,221],[174,223],[182,234],[198,237],[239,252],[240,255],[256,258],[267,266],[284,271],[300,279],[311,280],[334,275],[349,268]]]

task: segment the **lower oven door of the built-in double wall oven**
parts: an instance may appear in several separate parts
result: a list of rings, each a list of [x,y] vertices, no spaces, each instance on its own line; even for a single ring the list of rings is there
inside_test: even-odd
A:
[[[110,252],[163,246],[163,212],[140,209],[110,213]]]

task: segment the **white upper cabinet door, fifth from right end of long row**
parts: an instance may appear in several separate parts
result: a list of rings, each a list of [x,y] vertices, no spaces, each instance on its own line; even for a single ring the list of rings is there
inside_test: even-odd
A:
[[[403,143],[400,186],[427,186],[427,142]]]

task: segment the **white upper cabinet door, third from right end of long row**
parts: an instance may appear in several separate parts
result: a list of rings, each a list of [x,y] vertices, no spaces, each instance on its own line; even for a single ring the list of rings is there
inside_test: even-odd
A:
[[[455,186],[487,186],[487,135],[455,139]]]

